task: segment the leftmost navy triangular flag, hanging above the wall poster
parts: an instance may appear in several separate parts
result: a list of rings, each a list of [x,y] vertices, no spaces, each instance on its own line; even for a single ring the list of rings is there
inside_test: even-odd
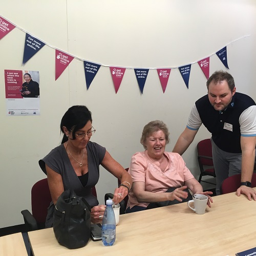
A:
[[[23,65],[44,46],[45,46],[44,42],[26,33]]]

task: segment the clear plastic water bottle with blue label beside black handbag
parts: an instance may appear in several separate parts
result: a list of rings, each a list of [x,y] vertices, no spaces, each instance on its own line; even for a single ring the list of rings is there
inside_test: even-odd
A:
[[[116,219],[112,204],[112,200],[106,200],[106,209],[102,219],[102,242],[105,246],[112,246],[116,241]]]

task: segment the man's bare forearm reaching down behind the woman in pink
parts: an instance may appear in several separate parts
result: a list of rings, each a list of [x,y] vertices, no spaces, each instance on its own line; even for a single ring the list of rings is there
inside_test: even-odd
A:
[[[182,155],[187,150],[191,142],[194,140],[197,132],[198,130],[190,130],[186,127],[183,133],[180,135],[179,139],[177,140],[173,152]]]

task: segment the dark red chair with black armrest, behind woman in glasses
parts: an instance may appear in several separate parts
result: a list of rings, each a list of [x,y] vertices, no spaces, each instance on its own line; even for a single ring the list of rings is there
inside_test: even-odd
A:
[[[92,194],[97,197],[95,187],[92,188]],[[32,214],[29,210],[22,210],[28,231],[45,228],[47,208],[51,201],[47,178],[37,181],[31,189]]]

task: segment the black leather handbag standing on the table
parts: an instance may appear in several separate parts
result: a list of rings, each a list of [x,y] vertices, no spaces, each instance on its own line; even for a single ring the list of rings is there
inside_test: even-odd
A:
[[[53,231],[59,244],[69,249],[85,246],[91,234],[91,207],[74,190],[58,198],[53,215]]]

